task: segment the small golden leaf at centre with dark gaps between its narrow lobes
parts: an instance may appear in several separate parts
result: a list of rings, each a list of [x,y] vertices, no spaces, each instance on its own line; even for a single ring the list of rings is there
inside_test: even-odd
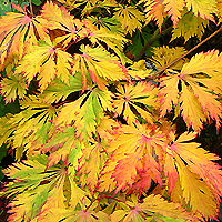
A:
[[[121,115],[128,123],[132,124],[135,122],[135,114],[139,114],[147,122],[153,123],[153,117],[150,112],[152,109],[158,109],[157,102],[157,88],[154,89],[151,83],[138,82],[134,84],[121,84],[117,88],[118,93],[113,105],[115,112]],[[143,104],[143,107],[142,107]]]

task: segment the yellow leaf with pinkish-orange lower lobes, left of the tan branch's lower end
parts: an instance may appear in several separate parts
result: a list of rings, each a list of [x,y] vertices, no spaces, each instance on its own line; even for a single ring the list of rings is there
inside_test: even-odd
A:
[[[91,77],[92,81],[101,90],[105,90],[108,80],[118,81],[127,80],[127,69],[119,62],[114,56],[110,56],[101,47],[90,48],[81,46],[83,54],[74,56],[73,73],[80,72],[83,80],[83,90],[87,89],[87,81]]]

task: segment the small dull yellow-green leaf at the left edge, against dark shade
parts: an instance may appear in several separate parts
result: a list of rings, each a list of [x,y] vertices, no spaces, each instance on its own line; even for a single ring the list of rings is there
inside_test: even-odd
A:
[[[3,78],[1,80],[1,94],[6,97],[6,103],[12,102],[17,99],[23,99],[28,87],[21,74]]]

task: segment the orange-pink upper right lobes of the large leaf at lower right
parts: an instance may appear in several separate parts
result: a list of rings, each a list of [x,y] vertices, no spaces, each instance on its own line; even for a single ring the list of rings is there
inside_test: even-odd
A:
[[[218,161],[220,158],[200,148],[199,143],[188,143],[188,141],[194,139],[195,135],[196,133],[193,132],[184,132],[180,135],[170,148],[172,152],[171,158],[174,157],[175,152],[193,173],[201,176],[206,185],[214,192],[214,195],[219,196],[222,192],[222,174],[220,172],[220,165],[215,164],[213,161]]]

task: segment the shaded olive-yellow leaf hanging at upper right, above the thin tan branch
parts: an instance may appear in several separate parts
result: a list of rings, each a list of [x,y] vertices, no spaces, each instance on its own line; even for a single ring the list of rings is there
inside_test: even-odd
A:
[[[182,19],[179,20],[176,28],[173,31],[171,41],[179,37],[183,37],[186,42],[191,37],[194,36],[201,40],[204,33],[204,28],[209,26],[209,20],[204,20],[200,16],[196,17],[193,14],[193,12],[188,12],[186,10],[184,10],[182,14]]]

